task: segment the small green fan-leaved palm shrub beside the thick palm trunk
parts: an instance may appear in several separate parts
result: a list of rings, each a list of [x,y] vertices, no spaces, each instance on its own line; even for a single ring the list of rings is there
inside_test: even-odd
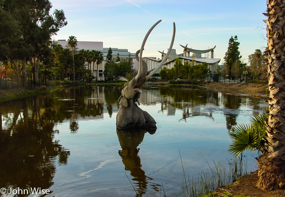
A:
[[[232,143],[229,145],[229,152],[235,157],[242,154],[245,150],[265,152],[265,140],[263,139],[266,133],[265,120],[268,119],[268,114],[254,114],[250,117],[250,124],[239,124],[231,129],[228,134]]]

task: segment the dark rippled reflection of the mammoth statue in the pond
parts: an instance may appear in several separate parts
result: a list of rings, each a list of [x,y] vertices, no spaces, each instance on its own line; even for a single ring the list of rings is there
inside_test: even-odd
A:
[[[142,169],[140,157],[138,155],[140,148],[139,144],[143,141],[145,134],[154,134],[156,129],[144,129],[144,128],[130,128],[130,129],[118,129],[117,135],[119,138],[122,150],[119,150],[119,155],[122,157],[125,170],[131,172],[131,176],[136,181],[135,184],[138,188],[135,188],[137,195],[142,196],[146,193],[148,183],[151,183],[152,189],[157,193],[161,185],[152,183],[152,178],[146,176],[145,171]],[[148,191],[150,192],[150,191]]]

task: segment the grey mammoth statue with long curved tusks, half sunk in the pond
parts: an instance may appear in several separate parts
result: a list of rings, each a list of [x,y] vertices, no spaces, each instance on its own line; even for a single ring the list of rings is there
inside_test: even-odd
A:
[[[175,38],[175,23],[173,22],[173,35],[171,44],[167,54],[164,56],[164,59],[160,62],[160,64],[155,68],[148,76],[146,76],[148,68],[146,62],[142,60],[142,52],[144,45],[146,43],[146,39],[149,34],[155,28],[155,26],[160,23],[161,20],[156,22],[147,32],[142,46],[140,50],[136,53],[136,59],[139,62],[138,74],[128,83],[125,83],[124,88],[122,89],[122,95],[118,100],[120,104],[119,112],[116,117],[116,126],[119,129],[127,129],[131,127],[144,127],[148,129],[156,129],[156,122],[148,112],[143,111],[139,108],[139,98],[142,90],[140,89],[141,85],[146,82],[166,61],[168,55],[173,46],[174,38]],[[139,56],[140,54],[140,56]]]

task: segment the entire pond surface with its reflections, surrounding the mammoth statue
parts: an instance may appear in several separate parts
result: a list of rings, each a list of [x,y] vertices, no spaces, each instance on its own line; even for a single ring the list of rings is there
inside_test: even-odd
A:
[[[52,191],[47,196],[160,196],[163,184],[167,196],[178,196],[179,150],[191,179],[207,161],[228,168],[228,130],[266,107],[262,96],[149,87],[140,107],[158,129],[119,130],[121,90],[66,88],[1,103],[0,186],[41,187]],[[246,155],[248,172],[256,170],[257,153]]]

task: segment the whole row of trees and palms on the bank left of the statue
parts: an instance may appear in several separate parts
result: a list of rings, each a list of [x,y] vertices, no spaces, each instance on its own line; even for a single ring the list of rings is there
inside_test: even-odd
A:
[[[67,25],[63,10],[50,14],[49,0],[4,0],[0,2],[0,62],[4,71],[15,73],[17,81],[26,85],[27,75],[35,83],[42,76],[48,80],[96,80],[99,65],[104,61],[101,51],[78,50],[77,39],[69,36],[67,46],[51,40],[60,28]],[[133,62],[112,61],[112,50],[104,71],[108,79],[133,77]],[[118,54],[119,55],[119,54]],[[111,59],[110,59],[111,56]],[[93,73],[96,70],[97,74]],[[4,67],[4,68],[3,68]],[[1,75],[1,73],[0,73]],[[3,75],[2,75],[3,76]],[[10,75],[11,76],[11,75]]]

